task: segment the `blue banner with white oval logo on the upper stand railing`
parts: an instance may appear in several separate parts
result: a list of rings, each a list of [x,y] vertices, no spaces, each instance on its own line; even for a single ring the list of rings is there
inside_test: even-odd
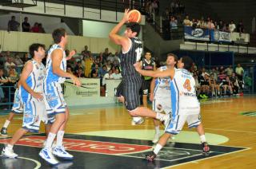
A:
[[[198,41],[210,41],[210,31],[204,28],[195,28],[191,26],[184,26],[185,39],[198,40]]]

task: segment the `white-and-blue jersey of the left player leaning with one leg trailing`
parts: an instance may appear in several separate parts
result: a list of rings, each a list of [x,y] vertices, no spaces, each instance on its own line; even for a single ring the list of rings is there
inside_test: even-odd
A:
[[[31,61],[33,64],[33,70],[30,73],[30,76],[26,78],[26,84],[30,86],[34,92],[43,92],[42,84],[46,75],[46,68],[42,62],[38,64],[38,62],[34,61],[33,59]],[[20,86],[19,92],[23,102],[29,101],[32,98],[31,94],[27,92],[22,85]]]

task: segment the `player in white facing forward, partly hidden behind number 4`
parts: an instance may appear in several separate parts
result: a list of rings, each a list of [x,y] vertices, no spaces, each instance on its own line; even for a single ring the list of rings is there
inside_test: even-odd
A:
[[[168,69],[175,69],[178,62],[178,57],[173,53],[167,54],[166,65],[158,68],[157,71],[162,72]],[[152,101],[152,110],[154,112],[171,112],[170,101],[170,77],[154,78],[150,85],[150,100]],[[159,120],[154,120],[154,139],[153,143],[157,143],[160,137],[160,123]]]

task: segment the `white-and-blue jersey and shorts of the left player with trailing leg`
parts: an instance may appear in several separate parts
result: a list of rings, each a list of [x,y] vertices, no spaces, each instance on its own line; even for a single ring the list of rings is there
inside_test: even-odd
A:
[[[37,61],[31,60],[33,70],[26,79],[26,84],[34,92],[42,93],[42,84],[45,77],[45,66]],[[24,114],[22,128],[29,132],[38,132],[41,120],[46,120],[46,107],[43,100],[35,99],[25,88],[20,86],[19,94],[21,96]]]

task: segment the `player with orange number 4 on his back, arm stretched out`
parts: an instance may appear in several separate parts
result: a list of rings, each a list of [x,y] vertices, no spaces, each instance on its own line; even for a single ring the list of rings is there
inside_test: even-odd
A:
[[[170,77],[171,90],[171,118],[169,124],[166,125],[165,133],[162,135],[154,151],[146,155],[145,158],[153,161],[158,152],[166,145],[167,140],[172,135],[177,135],[183,125],[187,122],[189,128],[197,128],[202,143],[202,154],[209,155],[210,147],[206,142],[206,136],[201,123],[200,104],[198,102],[194,77],[190,73],[192,67],[192,59],[190,57],[181,57],[178,61],[178,69],[170,69],[163,72],[146,71],[140,69],[138,64],[134,65],[138,73],[149,77]]]

